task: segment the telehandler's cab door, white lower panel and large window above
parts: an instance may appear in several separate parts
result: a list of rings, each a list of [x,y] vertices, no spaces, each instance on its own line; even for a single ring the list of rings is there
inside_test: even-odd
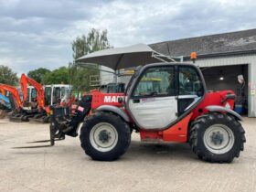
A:
[[[145,69],[128,100],[135,122],[144,129],[163,129],[177,119],[175,66]]]

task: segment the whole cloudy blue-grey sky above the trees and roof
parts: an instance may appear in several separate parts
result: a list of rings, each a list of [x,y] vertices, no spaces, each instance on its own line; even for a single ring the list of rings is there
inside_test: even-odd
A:
[[[113,47],[255,28],[255,10],[255,0],[0,0],[0,65],[67,66],[91,28],[107,29]]]

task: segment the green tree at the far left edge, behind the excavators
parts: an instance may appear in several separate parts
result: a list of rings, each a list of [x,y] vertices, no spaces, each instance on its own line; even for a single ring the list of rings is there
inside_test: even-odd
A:
[[[16,85],[17,81],[16,72],[7,66],[0,65],[0,83]]]

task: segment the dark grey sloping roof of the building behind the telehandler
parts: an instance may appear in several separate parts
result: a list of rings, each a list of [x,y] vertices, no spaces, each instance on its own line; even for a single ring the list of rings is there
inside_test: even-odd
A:
[[[256,50],[256,28],[217,35],[183,38],[149,45],[155,51],[173,57],[234,53]]]

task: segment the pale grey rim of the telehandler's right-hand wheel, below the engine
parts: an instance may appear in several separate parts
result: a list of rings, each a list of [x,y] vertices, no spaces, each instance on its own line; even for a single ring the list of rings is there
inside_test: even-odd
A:
[[[233,147],[234,133],[223,124],[214,124],[204,133],[204,144],[214,154],[225,154]]]

